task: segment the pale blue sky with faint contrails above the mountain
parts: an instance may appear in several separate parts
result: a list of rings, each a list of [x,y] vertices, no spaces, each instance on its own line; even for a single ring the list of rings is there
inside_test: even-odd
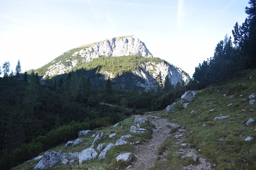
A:
[[[39,68],[70,49],[135,35],[190,77],[242,25],[248,0],[0,0],[0,65]],[[3,68],[2,68],[3,70]]]

